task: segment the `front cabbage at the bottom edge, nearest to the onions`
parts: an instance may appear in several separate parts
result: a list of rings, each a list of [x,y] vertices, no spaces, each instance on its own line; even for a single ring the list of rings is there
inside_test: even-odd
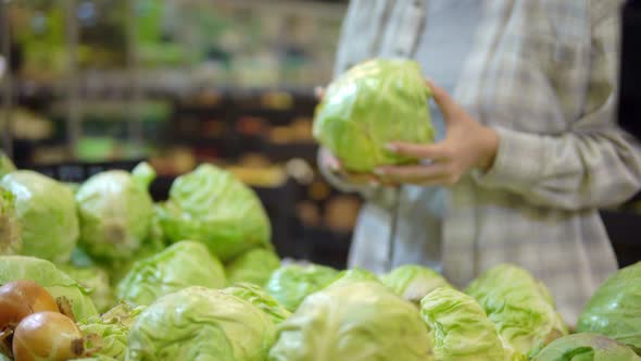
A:
[[[128,361],[264,361],[276,336],[269,318],[218,289],[189,287],[147,308],[129,331]]]

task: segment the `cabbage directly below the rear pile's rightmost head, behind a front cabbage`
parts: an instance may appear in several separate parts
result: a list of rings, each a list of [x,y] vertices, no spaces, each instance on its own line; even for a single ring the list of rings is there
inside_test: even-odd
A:
[[[222,288],[225,270],[200,242],[184,240],[137,261],[117,287],[121,299],[151,304],[163,295],[189,286]]]

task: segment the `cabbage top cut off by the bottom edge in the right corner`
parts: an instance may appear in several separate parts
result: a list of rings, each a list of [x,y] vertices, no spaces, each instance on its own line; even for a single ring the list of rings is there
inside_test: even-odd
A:
[[[605,336],[575,334],[554,340],[532,361],[641,361],[641,357]]]

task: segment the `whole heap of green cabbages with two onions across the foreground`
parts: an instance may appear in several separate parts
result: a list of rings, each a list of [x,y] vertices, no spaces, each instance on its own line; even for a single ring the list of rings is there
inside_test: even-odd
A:
[[[516,265],[456,289],[416,264],[281,262],[234,175],[202,165],[154,204],[153,174],[103,172],[76,197],[33,172],[3,176],[0,361],[641,361],[641,262],[607,279],[569,334]],[[147,210],[115,211],[133,207]]]

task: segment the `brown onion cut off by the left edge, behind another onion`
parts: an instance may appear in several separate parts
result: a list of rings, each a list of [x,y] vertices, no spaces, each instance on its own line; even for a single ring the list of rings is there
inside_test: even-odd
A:
[[[53,297],[33,281],[15,281],[0,287],[0,329],[14,328],[35,312],[60,312]]]

